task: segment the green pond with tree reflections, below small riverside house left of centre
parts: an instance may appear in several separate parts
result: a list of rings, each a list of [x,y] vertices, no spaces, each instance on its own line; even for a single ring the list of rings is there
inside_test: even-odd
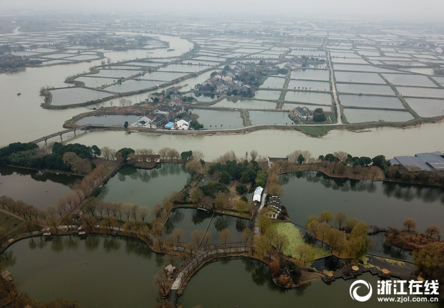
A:
[[[181,164],[161,164],[150,170],[123,166],[106,183],[99,198],[152,208],[172,191],[181,190],[188,178]]]

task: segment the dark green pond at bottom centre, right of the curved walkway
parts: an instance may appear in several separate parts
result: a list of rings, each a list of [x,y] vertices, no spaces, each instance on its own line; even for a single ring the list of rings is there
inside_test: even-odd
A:
[[[370,273],[359,276],[377,290],[377,276]],[[188,282],[179,303],[184,307],[355,307],[349,290],[355,279],[337,279],[324,283],[320,279],[301,287],[286,290],[276,286],[269,274],[268,266],[257,260],[223,259],[209,263]],[[375,292],[375,291],[374,291]],[[375,305],[392,307],[393,304],[379,303],[376,296],[359,303],[359,307],[373,308]],[[432,307],[430,303],[404,303],[406,307]],[[404,306],[403,305],[403,306]]]

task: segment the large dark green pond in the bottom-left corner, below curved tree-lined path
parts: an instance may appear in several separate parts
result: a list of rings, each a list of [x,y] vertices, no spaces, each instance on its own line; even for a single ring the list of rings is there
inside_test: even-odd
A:
[[[159,298],[153,276],[167,265],[148,245],[127,237],[37,237],[9,251],[19,290],[38,301],[76,300],[82,308],[151,307]]]

